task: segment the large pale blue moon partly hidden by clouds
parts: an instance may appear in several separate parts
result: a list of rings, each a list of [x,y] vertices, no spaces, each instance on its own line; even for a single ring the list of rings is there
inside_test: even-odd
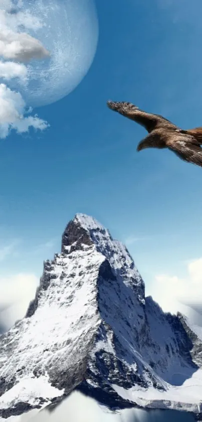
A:
[[[32,107],[54,103],[73,91],[89,70],[98,41],[94,0],[21,0],[21,11],[42,25],[27,28],[50,52],[50,57],[27,63],[27,83],[15,78],[9,86]],[[37,25],[36,25],[37,27]]]

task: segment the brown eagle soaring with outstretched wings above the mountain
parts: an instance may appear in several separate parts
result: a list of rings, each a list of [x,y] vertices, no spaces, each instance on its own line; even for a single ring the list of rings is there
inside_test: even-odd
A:
[[[108,101],[107,106],[147,130],[147,135],[137,145],[137,151],[145,148],[168,148],[179,158],[202,167],[202,127],[183,130],[158,114],[147,113],[126,102]]]

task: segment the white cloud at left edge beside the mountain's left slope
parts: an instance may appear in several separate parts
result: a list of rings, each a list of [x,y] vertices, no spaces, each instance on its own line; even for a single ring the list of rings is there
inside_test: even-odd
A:
[[[25,316],[38,284],[34,274],[0,277],[0,321],[7,329]]]

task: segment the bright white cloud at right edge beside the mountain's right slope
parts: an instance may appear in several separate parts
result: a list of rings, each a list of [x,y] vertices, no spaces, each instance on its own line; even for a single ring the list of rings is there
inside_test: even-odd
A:
[[[176,312],[184,306],[201,304],[202,308],[202,258],[189,261],[187,277],[157,275],[149,294],[164,311]]]

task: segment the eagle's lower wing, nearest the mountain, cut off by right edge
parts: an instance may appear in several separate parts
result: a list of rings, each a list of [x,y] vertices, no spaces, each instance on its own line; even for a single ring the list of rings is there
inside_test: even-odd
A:
[[[202,167],[202,148],[194,138],[187,140],[184,137],[178,140],[170,139],[166,142],[167,147],[184,161],[191,162]]]

